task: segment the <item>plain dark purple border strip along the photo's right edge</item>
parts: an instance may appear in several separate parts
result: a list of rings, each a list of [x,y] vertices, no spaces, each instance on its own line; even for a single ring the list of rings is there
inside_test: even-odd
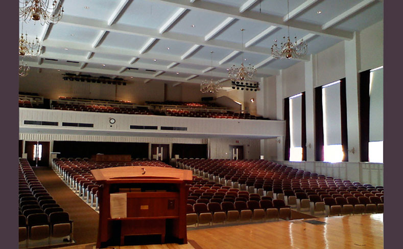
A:
[[[401,141],[401,59],[403,53],[394,49],[395,41],[402,40],[398,32],[401,24],[401,1],[384,2],[384,187],[386,205],[384,214],[384,244],[386,249],[401,244],[401,176],[403,175]],[[388,197],[389,196],[389,197]]]

